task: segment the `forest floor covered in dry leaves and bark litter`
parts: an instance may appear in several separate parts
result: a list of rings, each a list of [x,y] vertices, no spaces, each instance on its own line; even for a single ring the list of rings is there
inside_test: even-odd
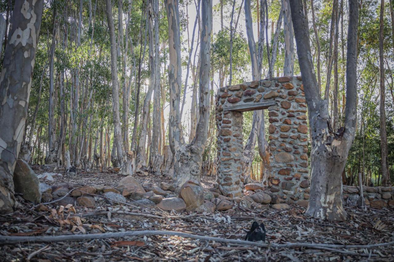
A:
[[[36,169],[36,173],[43,170]],[[164,176],[136,175],[144,187],[171,183]],[[123,178],[111,171],[83,172],[77,177],[54,176],[48,185],[71,182],[78,185],[116,186]],[[40,179],[41,180],[41,179]],[[202,177],[202,185],[212,187],[214,177]],[[234,207],[235,213],[216,211],[167,212],[158,208],[110,204],[106,199],[95,207],[61,207],[54,204],[33,206],[21,201],[22,208],[0,216],[0,234],[12,236],[80,235],[139,230],[170,230],[223,239],[245,238],[253,221],[264,222],[266,243],[259,247],[180,236],[150,235],[103,238],[51,243],[0,242],[3,261],[393,261],[394,245],[373,248],[276,247],[275,244],[325,243],[372,245],[394,241],[394,211],[367,211],[346,208],[348,221],[327,222],[307,218],[305,208],[291,205],[290,210],[268,208],[264,211]],[[139,213],[130,215],[127,212]],[[146,217],[145,215],[153,215]]]

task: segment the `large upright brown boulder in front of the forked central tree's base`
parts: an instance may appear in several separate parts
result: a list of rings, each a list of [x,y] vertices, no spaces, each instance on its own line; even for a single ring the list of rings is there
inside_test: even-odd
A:
[[[185,201],[186,210],[191,211],[203,205],[204,190],[197,181],[190,179],[180,187],[179,197]]]

